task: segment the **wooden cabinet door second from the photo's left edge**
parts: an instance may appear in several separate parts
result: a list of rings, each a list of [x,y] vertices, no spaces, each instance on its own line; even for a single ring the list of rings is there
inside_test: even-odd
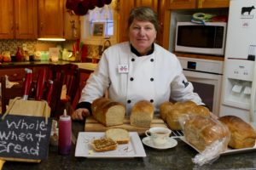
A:
[[[37,0],[15,0],[15,37],[17,39],[37,38]]]

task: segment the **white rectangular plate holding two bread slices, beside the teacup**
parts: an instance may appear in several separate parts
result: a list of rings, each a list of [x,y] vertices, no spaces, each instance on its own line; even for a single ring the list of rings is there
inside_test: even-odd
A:
[[[81,132],[77,140],[75,156],[89,158],[124,158],[124,157],[145,157],[141,139],[137,132],[130,132],[130,142],[119,144],[116,150],[96,152],[90,143],[93,139],[101,139],[105,133]]]

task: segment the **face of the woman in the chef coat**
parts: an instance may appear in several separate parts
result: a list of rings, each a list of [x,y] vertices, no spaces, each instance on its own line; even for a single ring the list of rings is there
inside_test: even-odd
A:
[[[129,28],[129,38],[131,45],[140,54],[147,54],[156,38],[154,25],[149,21],[133,20]]]

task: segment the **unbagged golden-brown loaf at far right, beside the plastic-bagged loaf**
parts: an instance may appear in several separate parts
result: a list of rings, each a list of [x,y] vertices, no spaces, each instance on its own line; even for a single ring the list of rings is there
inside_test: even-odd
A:
[[[231,137],[229,146],[235,149],[253,147],[256,133],[253,127],[237,116],[222,116],[218,120],[229,127]]]

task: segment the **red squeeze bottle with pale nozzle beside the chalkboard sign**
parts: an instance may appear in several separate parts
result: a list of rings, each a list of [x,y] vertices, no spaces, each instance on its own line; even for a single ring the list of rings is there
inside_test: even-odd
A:
[[[71,133],[72,133],[72,121],[71,117],[67,116],[67,111],[64,110],[63,115],[59,120],[59,154],[68,155],[71,150]]]

